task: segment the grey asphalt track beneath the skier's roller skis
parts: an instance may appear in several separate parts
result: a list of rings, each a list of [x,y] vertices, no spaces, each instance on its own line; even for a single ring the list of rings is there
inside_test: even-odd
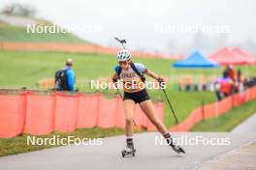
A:
[[[199,169],[204,163],[230,152],[241,145],[256,139],[256,133],[174,133],[179,139],[193,140],[204,138],[224,146],[204,145],[184,146],[187,154],[176,155],[168,146],[155,145],[158,133],[148,132],[135,135],[137,156],[122,158],[120,151],[124,148],[124,136],[103,139],[101,146],[68,146],[47,149],[16,156],[0,157],[2,170],[170,170]],[[193,142],[192,141],[192,142]],[[226,142],[225,142],[226,141]],[[242,160],[241,160],[242,161]],[[244,160],[246,161],[246,160]],[[255,162],[256,163],[256,162]]]

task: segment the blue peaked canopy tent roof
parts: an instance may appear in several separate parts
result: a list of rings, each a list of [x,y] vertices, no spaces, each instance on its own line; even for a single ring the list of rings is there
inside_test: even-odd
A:
[[[177,61],[174,68],[191,68],[191,69],[207,69],[207,68],[218,68],[219,65],[213,61],[208,60],[200,52],[195,51],[186,59]]]

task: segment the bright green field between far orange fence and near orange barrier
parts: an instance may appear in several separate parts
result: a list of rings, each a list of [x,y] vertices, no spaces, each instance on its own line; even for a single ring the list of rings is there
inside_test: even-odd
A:
[[[5,72],[0,76],[0,87],[34,87],[40,79],[53,77],[54,71],[63,67],[66,58],[72,57],[75,61],[74,71],[77,81],[82,79],[95,79],[98,77],[112,76],[113,67],[116,65],[115,56],[67,54],[60,52],[25,52],[25,51],[0,51],[0,71]],[[165,76],[172,74],[171,65],[174,61],[161,59],[134,58],[134,62],[142,62],[144,65],[157,73]],[[182,71],[176,71],[182,74]],[[80,91],[90,91],[87,83],[80,83]],[[113,93],[114,91],[103,91]],[[152,99],[165,100],[164,94],[159,90],[149,90]],[[167,89],[169,98],[175,108],[179,121],[184,120],[193,108],[199,106],[202,99],[208,102],[215,100],[212,93],[180,93]],[[171,109],[166,102],[165,124],[171,127],[175,124]]]

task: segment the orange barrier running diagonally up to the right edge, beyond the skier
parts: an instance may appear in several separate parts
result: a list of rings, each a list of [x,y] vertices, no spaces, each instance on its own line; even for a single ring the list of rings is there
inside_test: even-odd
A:
[[[244,93],[234,94],[226,99],[195,108],[183,122],[170,128],[170,130],[188,131],[200,121],[224,114],[234,106],[240,106],[242,103],[253,99],[256,99],[256,87],[247,89]]]

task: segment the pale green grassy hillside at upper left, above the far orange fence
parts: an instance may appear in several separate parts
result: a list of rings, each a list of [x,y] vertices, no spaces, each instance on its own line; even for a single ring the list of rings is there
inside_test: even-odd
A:
[[[25,27],[0,24],[0,42],[68,42],[86,43],[73,34],[27,33]]]

